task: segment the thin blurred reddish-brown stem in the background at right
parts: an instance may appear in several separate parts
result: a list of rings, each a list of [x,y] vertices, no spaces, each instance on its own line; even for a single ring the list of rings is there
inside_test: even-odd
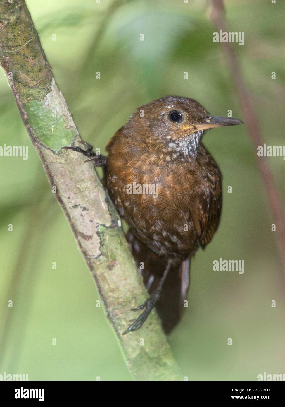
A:
[[[212,0],[212,12],[211,19],[217,26],[217,28],[222,31],[228,31],[225,22],[225,10],[223,0]],[[228,63],[231,70],[233,82],[237,88],[237,94],[239,96],[239,102],[241,105],[241,110],[244,115],[244,121],[248,126],[248,133],[255,148],[262,146],[264,144],[261,131],[259,129],[259,124],[257,116],[254,112],[250,94],[244,83],[241,70],[239,68],[239,63],[237,57],[233,50],[233,46],[230,42],[223,42],[226,55],[228,57]],[[281,256],[281,261],[283,263],[283,268],[285,270],[285,218],[283,212],[283,206],[281,203],[281,198],[278,194],[273,175],[268,166],[266,157],[258,157],[256,154],[257,167],[261,173],[261,178],[264,183],[265,192],[268,197],[270,210],[276,224],[276,239]]]

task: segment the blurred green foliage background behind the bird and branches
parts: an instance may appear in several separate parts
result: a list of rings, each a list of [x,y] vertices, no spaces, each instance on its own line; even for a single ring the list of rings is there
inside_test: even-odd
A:
[[[233,117],[243,119],[224,51],[212,40],[216,28],[209,2],[27,4],[82,138],[101,151],[136,107],[161,96],[188,96],[211,114],[226,116],[231,109]],[[264,142],[283,145],[284,2],[225,4],[229,30],[245,32],[244,46],[234,48]],[[0,92],[1,145],[29,146],[28,160],[0,158],[0,374],[28,374],[29,380],[131,380],[104,310],[96,308],[98,292],[4,72]],[[211,244],[192,262],[189,308],[169,336],[170,344],[189,380],[284,374],[283,270],[256,151],[246,126],[211,130],[204,143],[223,174],[222,220]],[[284,202],[285,162],[268,158],[268,163]],[[11,223],[13,232],[8,231]],[[245,273],[213,271],[213,260],[220,257],[244,260]]]

